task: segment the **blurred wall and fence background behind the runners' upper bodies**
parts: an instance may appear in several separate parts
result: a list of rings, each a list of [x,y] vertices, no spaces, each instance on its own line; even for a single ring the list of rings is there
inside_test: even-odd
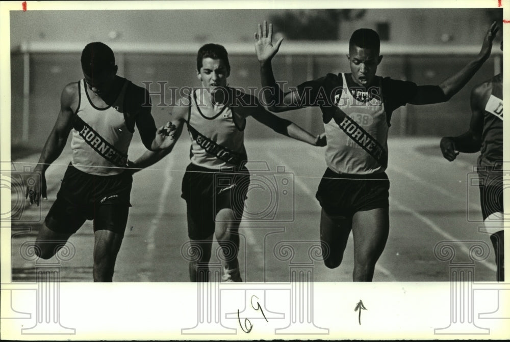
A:
[[[381,76],[439,84],[479,51],[484,34],[502,10],[175,10],[175,11],[27,11],[11,12],[11,144],[40,148],[59,111],[63,87],[83,77],[81,49],[103,41],[116,54],[119,75],[143,86],[199,86],[196,50],[204,43],[223,44],[230,53],[231,86],[260,88],[253,50],[257,23],[270,20],[286,38],[273,68],[290,86],[327,72],[349,72],[345,54],[350,34],[359,27],[379,32]],[[469,94],[475,84],[501,70],[499,42],[491,59],[464,89],[444,104],[407,105],[394,112],[390,135],[455,135],[469,124]],[[171,96],[163,101],[168,104]],[[152,95],[157,124],[171,106]],[[162,105],[158,105],[162,104]],[[317,108],[285,113],[313,133],[322,132]],[[247,138],[275,133],[250,120]]]

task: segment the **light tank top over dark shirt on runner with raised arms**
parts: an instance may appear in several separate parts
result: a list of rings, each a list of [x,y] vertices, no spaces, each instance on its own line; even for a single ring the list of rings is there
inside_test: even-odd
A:
[[[378,84],[378,99],[372,98],[369,102],[363,103],[356,100],[352,95],[343,73],[342,81],[343,94],[341,100],[337,103],[338,108],[374,137],[387,154],[389,126],[384,103],[381,99],[381,84]],[[364,96],[364,94],[360,95]],[[365,96],[369,95],[370,92]],[[369,175],[384,172],[386,167],[379,164],[368,152],[345,134],[335,120],[324,123],[324,128],[327,138],[325,159],[330,169],[338,174]],[[349,131],[351,128],[355,138],[358,138],[365,146],[370,146],[364,134],[356,131],[353,126],[347,127],[347,130]]]

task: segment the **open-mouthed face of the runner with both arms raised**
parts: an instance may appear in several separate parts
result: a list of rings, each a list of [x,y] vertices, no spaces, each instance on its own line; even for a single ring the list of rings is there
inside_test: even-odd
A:
[[[361,48],[353,46],[347,55],[349,59],[352,79],[360,86],[370,86],[374,80],[377,66],[379,65],[382,56],[379,52],[372,48]]]

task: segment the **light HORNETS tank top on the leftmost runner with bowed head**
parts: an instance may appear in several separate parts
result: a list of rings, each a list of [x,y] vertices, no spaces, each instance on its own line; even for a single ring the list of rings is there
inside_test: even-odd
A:
[[[89,98],[85,80],[79,82],[80,100],[72,129],[72,165],[92,175],[110,176],[123,172],[133,131],[127,128],[124,84],[111,106],[98,108]]]

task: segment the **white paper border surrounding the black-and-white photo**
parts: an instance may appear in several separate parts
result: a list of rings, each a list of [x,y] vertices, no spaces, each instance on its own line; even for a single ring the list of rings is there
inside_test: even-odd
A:
[[[510,2],[503,0],[504,19],[510,19]],[[498,1],[429,0],[429,1],[168,1],[168,2],[27,2],[31,10],[121,10],[121,9],[285,9],[285,8],[488,8],[498,7]],[[2,160],[10,160],[10,17],[9,11],[21,11],[21,1],[0,3],[0,146]],[[504,37],[510,26],[502,25]],[[508,53],[503,54],[504,69]],[[503,93],[508,90],[504,79]],[[509,97],[504,106],[509,107]],[[508,122],[504,131],[508,131]],[[504,146],[509,146],[510,134],[504,134]],[[508,149],[504,150],[505,160]],[[508,178],[508,176],[505,176]],[[2,212],[10,203],[10,194],[1,193]],[[505,193],[505,211],[510,203]],[[1,230],[2,283],[11,279],[10,229]],[[509,254],[510,246],[505,247]],[[508,263],[507,263],[508,264]],[[508,277],[507,277],[508,279]],[[508,281],[508,280],[507,280]],[[251,291],[250,284],[238,284]],[[268,289],[271,289],[270,284]],[[314,283],[314,322],[329,328],[328,335],[275,335],[274,327],[281,322],[252,321],[253,330],[246,334],[236,320],[225,326],[237,328],[235,335],[182,335],[181,329],[196,323],[196,284],[192,283],[61,283],[61,323],[75,328],[75,335],[21,335],[22,322],[2,320],[3,339],[501,339],[508,320],[486,320],[483,327],[489,335],[437,335],[435,328],[448,325],[450,320],[449,282],[373,282],[373,283]],[[4,297],[4,291],[2,291]],[[367,307],[362,313],[363,325],[358,325],[355,303],[363,299]],[[33,306],[33,296],[17,297],[19,307]],[[239,304],[239,305],[238,305]],[[243,307],[245,303],[226,302],[225,307]],[[278,303],[271,305],[278,306]],[[285,304],[282,304],[285,305]],[[271,306],[274,307],[274,306]],[[283,310],[284,308],[282,308]],[[285,308],[287,311],[288,308]],[[510,309],[504,308],[505,317]],[[475,318],[476,319],[476,318]],[[30,320],[32,323],[33,320]],[[259,330],[259,327],[260,330]],[[506,330],[507,331],[507,330]],[[47,337],[47,338],[46,338]]]

